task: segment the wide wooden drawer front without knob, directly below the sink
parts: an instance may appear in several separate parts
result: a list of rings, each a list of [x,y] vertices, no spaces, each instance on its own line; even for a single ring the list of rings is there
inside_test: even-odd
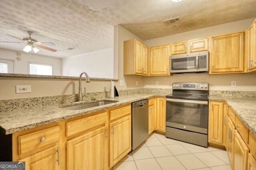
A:
[[[84,117],[82,119],[77,119],[66,123],[67,137],[86,131],[98,125],[107,122],[107,112],[99,113],[93,116]]]

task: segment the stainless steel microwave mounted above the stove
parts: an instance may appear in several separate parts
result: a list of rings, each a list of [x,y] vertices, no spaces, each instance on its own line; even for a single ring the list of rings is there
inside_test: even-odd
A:
[[[179,54],[170,56],[170,72],[197,73],[208,72],[209,51]]]

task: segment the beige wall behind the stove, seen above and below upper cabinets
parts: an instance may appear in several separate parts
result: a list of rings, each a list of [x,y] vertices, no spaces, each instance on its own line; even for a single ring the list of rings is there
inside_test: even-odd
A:
[[[148,46],[185,41],[212,35],[219,35],[248,29],[254,18],[213,27],[207,27],[176,35],[144,41]],[[237,87],[231,87],[231,81],[237,81]],[[155,86],[159,81],[159,86]],[[209,83],[210,90],[256,91],[256,74],[175,74],[174,76],[144,77],[144,88],[172,88],[173,82],[205,82]]]

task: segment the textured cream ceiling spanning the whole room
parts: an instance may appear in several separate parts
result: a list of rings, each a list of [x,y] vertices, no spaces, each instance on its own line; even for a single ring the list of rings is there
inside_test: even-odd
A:
[[[112,25],[147,40],[254,18],[255,6],[256,0],[1,0],[0,41],[16,41],[5,34],[28,37],[26,30],[32,30],[32,38],[53,42],[58,50],[38,54],[68,57],[113,47]],[[178,16],[180,22],[164,25],[163,20]],[[16,51],[24,46],[0,43]]]

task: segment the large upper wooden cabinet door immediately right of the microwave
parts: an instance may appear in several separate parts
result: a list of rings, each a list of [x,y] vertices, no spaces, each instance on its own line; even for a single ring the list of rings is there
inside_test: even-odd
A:
[[[244,71],[244,32],[212,37],[210,73]]]

